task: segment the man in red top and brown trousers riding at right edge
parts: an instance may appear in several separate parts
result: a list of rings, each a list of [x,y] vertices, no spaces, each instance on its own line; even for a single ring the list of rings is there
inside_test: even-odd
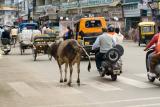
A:
[[[155,45],[154,52],[148,56],[149,63],[149,75],[155,77],[155,66],[160,60],[160,26],[158,26],[158,33],[154,35],[152,40],[148,43],[144,51],[147,51],[150,47]]]

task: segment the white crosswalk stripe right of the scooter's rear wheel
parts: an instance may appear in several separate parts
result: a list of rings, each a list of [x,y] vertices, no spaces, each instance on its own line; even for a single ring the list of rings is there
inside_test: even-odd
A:
[[[154,88],[154,87],[158,87],[156,85],[153,84],[149,84],[149,83],[145,83],[145,82],[141,82],[141,81],[137,81],[134,79],[130,79],[130,78],[126,78],[126,77],[118,77],[118,81],[127,84],[127,85],[131,85],[137,88]]]

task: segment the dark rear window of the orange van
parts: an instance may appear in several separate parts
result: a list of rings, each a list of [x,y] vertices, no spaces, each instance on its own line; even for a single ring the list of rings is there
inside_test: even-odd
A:
[[[86,21],[85,26],[86,28],[93,28],[93,27],[101,27],[102,24],[100,20],[89,20],[89,21]]]

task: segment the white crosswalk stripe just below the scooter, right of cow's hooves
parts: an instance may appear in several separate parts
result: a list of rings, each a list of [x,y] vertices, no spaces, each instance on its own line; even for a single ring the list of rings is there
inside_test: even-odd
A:
[[[102,82],[90,82],[89,85],[93,88],[96,88],[100,91],[116,91],[116,90],[122,90],[121,88],[119,87],[115,87],[115,86],[112,86],[112,85],[109,85],[109,84],[104,84]]]

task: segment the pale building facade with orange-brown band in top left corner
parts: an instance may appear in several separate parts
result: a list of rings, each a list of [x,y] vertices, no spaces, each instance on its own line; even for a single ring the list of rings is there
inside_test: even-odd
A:
[[[1,0],[0,1],[0,24],[13,25],[16,19],[15,0]]]

